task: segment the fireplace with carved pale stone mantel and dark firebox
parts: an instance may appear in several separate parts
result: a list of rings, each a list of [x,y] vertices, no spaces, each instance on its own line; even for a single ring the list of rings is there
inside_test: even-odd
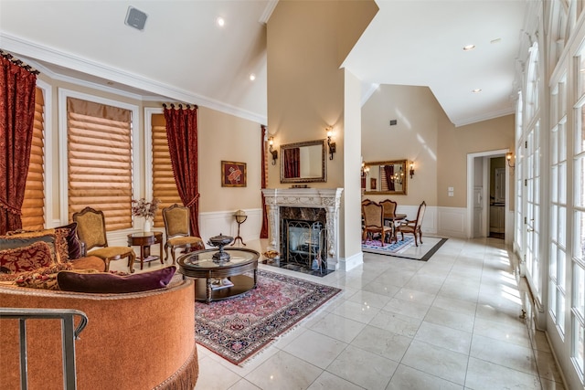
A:
[[[310,268],[313,269],[313,260],[320,257],[322,269],[338,268],[342,191],[343,188],[262,190],[268,213],[269,246],[279,250],[282,260],[292,258],[303,264],[310,261]],[[291,232],[293,238],[290,237]],[[299,235],[301,242],[297,237]]]

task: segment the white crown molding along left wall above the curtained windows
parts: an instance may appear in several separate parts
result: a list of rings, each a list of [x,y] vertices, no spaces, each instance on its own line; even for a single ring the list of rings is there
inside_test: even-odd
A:
[[[134,89],[151,92],[153,95],[140,95],[83,79],[67,77],[54,71],[50,71],[47,69],[47,67],[40,66],[37,63],[35,64],[36,68],[38,66],[41,71],[53,79],[61,79],[73,84],[84,85],[97,90],[106,90],[122,94],[124,96],[130,96],[139,100],[177,100],[190,102],[197,104],[198,106],[225,112],[249,121],[255,121],[258,123],[267,122],[266,115],[243,110],[239,107],[235,107],[222,101],[211,99],[187,90],[177,89],[176,87],[160,83],[153,79],[146,79],[122,69],[108,67],[103,64],[91,61],[88,58],[80,58],[69,53],[59,51],[56,48],[39,45],[35,42],[28,41],[20,37],[14,37],[4,32],[0,32],[0,41],[2,42],[3,49],[16,55],[25,56],[33,60],[37,59],[39,61],[45,61],[63,68],[87,73],[101,79],[112,80],[113,82],[120,83]]]

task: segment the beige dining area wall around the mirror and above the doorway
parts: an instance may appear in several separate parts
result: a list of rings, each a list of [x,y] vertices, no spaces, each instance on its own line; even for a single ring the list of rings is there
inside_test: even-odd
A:
[[[398,124],[390,126],[394,119]],[[389,197],[399,206],[424,200],[429,206],[466,207],[467,154],[514,150],[514,126],[514,115],[507,115],[455,127],[429,88],[381,85],[362,110],[364,161],[411,160],[415,174],[408,195],[364,197]],[[448,196],[449,187],[454,196]]]

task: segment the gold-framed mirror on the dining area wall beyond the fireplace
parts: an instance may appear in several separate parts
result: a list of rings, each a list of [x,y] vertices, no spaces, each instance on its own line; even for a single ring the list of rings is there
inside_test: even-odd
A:
[[[408,160],[364,163],[364,166],[369,168],[367,174],[362,176],[364,194],[407,195],[409,174],[406,169],[408,163]]]

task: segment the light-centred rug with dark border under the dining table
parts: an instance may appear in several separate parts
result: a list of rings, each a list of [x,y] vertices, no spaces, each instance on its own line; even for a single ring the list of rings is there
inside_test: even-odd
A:
[[[422,237],[423,243],[419,246],[414,245],[414,237],[406,235],[404,241],[394,242],[391,245],[376,240],[367,240],[362,243],[362,251],[367,253],[376,253],[378,255],[393,256],[395,258],[410,258],[413,260],[428,261],[439,248],[447,241],[447,238],[440,237]]]

